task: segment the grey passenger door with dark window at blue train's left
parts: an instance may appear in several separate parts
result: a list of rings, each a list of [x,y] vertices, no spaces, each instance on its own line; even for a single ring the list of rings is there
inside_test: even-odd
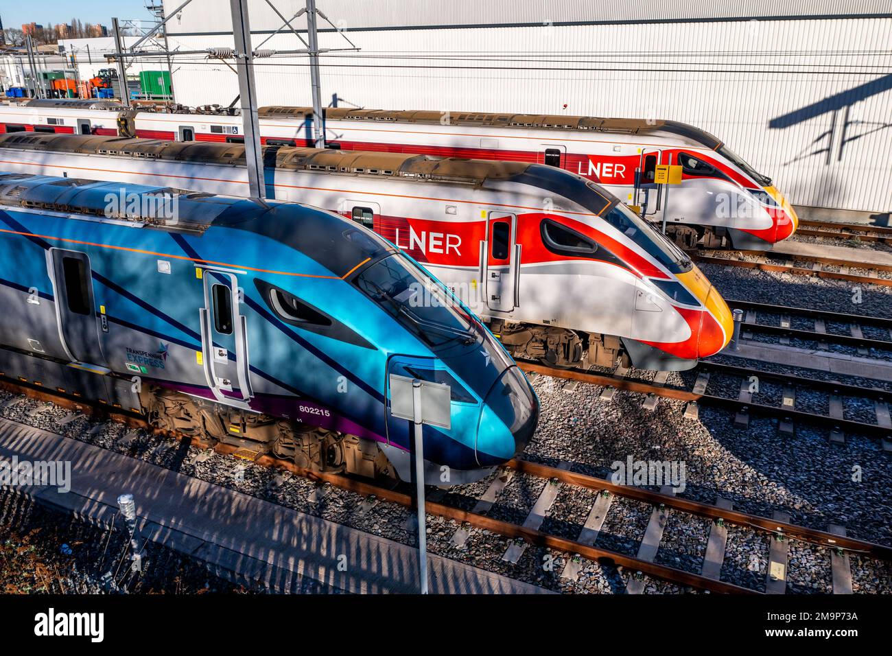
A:
[[[87,253],[62,248],[51,248],[47,257],[52,268],[56,323],[65,353],[72,361],[106,366],[99,342],[90,258]]]

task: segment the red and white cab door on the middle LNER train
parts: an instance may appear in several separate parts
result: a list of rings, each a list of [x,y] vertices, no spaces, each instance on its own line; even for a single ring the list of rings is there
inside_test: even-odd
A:
[[[516,245],[516,216],[490,212],[486,235],[480,255],[486,306],[490,310],[510,312],[518,304],[519,292],[520,246]]]

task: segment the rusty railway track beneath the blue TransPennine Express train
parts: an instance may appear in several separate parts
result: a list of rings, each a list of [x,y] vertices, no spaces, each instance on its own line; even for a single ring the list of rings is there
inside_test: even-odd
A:
[[[207,444],[195,436],[160,431],[149,426],[145,417],[132,411],[100,403],[87,403],[83,399],[42,389],[25,381],[2,377],[0,378],[0,387],[19,394],[27,394],[38,400],[77,409],[85,414],[122,421],[156,435],[174,437],[196,447],[212,448],[217,453],[235,457],[238,457],[239,453],[244,453],[244,450],[233,445]],[[409,494],[408,486],[405,485],[396,488],[379,486],[367,480],[346,477],[338,473],[310,471],[296,466],[293,461],[278,459],[268,454],[252,458],[252,461],[262,466],[286,469],[296,475],[319,483],[328,483],[340,489],[363,495],[368,499],[374,498],[375,500],[398,503],[406,507],[413,504],[413,496]],[[766,538],[770,539],[771,552],[765,578],[765,592],[783,593],[786,591],[789,539],[832,550],[833,571],[831,576],[835,593],[852,591],[848,554],[861,554],[878,561],[892,561],[892,547],[846,536],[845,529],[842,527],[830,526],[827,531],[802,527],[790,523],[789,517],[782,513],[775,513],[774,517],[768,519],[746,512],[734,511],[730,502],[721,499],[717,500],[715,504],[697,502],[676,497],[668,486],[662,487],[660,492],[643,487],[623,486],[607,479],[574,472],[571,467],[572,463],[561,463],[559,467],[550,467],[533,461],[509,461],[502,469],[501,475],[495,477],[491,486],[476,500],[476,505],[472,510],[463,510],[455,504],[443,502],[442,499],[446,494],[439,489],[435,489],[429,500],[425,502],[425,510],[432,515],[458,522],[459,527],[451,538],[452,544],[459,544],[463,540],[467,540],[468,529],[475,527],[515,541],[508,545],[503,561],[518,561],[524,550],[530,545],[569,554],[570,558],[566,560],[561,571],[561,577],[568,579],[578,576],[579,559],[622,567],[631,572],[626,584],[626,591],[633,594],[644,591],[644,575],[675,585],[690,586],[715,593],[758,594],[760,592],[758,590],[721,580],[729,525],[764,532]],[[516,523],[489,516],[487,512],[498,502],[500,491],[508,485],[510,478],[516,475],[536,477],[547,481],[527,518],[522,523]],[[589,510],[588,519],[576,539],[553,535],[541,530],[542,521],[548,514],[551,504],[557,499],[560,486],[575,486],[597,493]],[[596,545],[600,527],[603,525],[615,498],[645,503],[652,509],[648,528],[640,539],[639,551],[635,556]],[[712,521],[702,566],[698,572],[671,567],[657,561],[663,539],[663,529],[671,514],[677,518],[686,515]]]

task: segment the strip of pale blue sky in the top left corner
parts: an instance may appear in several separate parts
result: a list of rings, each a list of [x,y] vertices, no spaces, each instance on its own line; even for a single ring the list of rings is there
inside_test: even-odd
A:
[[[152,18],[145,11],[145,0],[78,0],[77,3],[64,0],[4,0],[0,2],[0,19],[4,27],[21,28],[22,23],[36,22],[40,25],[70,22],[78,18],[85,23],[100,23],[111,27],[111,17],[123,19]]]

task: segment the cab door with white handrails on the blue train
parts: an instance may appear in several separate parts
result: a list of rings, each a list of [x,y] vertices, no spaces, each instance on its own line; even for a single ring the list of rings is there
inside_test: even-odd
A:
[[[202,364],[211,393],[220,403],[250,409],[247,320],[241,314],[241,292],[235,274],[202,270],[204,307]]]

